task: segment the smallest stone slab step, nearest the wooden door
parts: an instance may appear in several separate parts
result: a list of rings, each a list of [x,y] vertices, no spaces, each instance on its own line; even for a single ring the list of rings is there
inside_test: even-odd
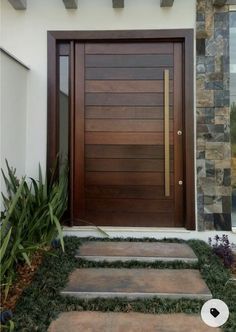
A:
[[[197,262],[197,256],[187,244],[162,242],[89,241],[80,246],[76,257],[109,262],[118,260]]]

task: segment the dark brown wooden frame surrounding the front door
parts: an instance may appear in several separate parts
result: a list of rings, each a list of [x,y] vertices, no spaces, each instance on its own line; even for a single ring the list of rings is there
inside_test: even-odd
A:
[[[184,65],[184,159],[185,159],[185,227],[195,230],[195,165],[193,103],[193,30],[126,30],[126,31],[48,31],[48,118],[47,169],[58,154],[58,55],[70,56],[70,125],[74,126],[74,41],[178,41],[183,45]],[[70,135],[70,220],[73,224],[73,137]]]

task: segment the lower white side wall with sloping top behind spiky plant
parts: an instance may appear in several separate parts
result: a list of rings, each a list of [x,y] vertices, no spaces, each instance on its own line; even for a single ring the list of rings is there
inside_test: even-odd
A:
[[[22,176],[25,175],[26,166],[26,99],[28,70],[2,52],[0,52],[0,68],[1,168],[6,169],[5,159],[7,159],[10,166],[17,169],[17,175]],[[2,175],[0,175],[0,192],[5,192]]]

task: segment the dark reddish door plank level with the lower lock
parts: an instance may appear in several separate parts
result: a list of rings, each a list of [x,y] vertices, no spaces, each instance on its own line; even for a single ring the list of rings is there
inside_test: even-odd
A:
[[[173,174],[171,174],[171,184],[173,185]],[[160,186],[164,185],[164,177],[161,172],[86,172],[87,185]]]

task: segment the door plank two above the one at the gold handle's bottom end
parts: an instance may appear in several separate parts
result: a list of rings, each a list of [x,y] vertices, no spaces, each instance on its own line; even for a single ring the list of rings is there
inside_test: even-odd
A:
[[[88,172],[164,172],[163,159],[86,159]],[[170,165],[173,171],[173,161]]]

